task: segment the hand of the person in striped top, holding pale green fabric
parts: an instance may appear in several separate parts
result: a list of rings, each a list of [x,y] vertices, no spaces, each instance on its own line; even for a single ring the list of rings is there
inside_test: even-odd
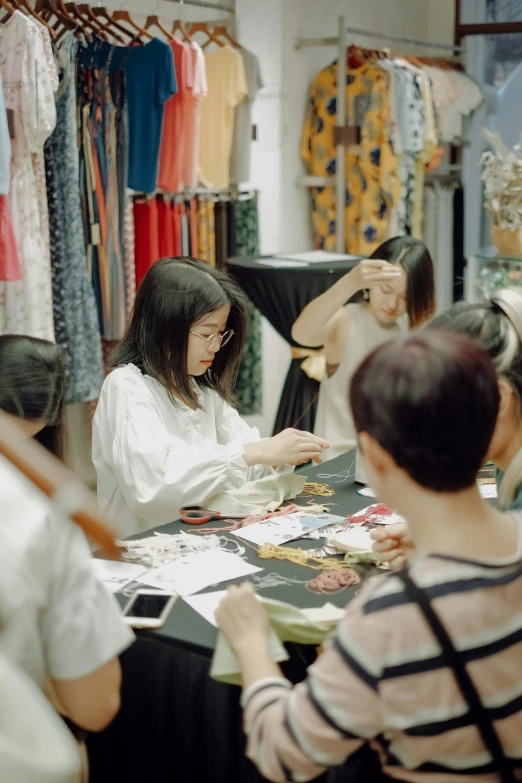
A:
[[[257,647],[268,640],[268,617],[250,582],[228,588],[216,610],[216,622],[236,653],[245,643]]]

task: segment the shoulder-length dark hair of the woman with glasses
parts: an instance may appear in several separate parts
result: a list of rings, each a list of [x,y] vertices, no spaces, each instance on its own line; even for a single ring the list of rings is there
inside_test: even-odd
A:
[[[230,305],[227,328],[233,339],[205,375],[191,378],[187,349],[191,327],[205,315]],[[151,266],[136,294],[125,335],[111,356],[113,366],[134,364],[173,395],[197,404],[194,383],[213,389],[229,403],[248,329],[245,297],[223,272],[194,258],[163,258]]]

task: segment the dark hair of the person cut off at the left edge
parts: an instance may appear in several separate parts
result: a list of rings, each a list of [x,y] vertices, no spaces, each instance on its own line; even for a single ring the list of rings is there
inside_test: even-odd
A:
[[[25,335],[0,337],[0,410],[45,421],[35,439],[64,459],[65,369],[58,345]]]

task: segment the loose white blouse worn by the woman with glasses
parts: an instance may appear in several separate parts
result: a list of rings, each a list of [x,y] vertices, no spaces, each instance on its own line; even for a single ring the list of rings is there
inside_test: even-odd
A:
[[[115,390],[116,391],[116,390]],[[249,470],[245,443],[259,439],[217,395],[213,402],[218,442],[206,439],[186,443],[183,433],[169,432],[152,395],[117,391],[118,428],[112,444],[112,462],[127,505],[153,524],[179,517],[186,505],[204,505],[218,492],[239,488],[262,471]],[[269,470],[269,469],[268,469]],[[267,470],[265,469],[265,473]]]

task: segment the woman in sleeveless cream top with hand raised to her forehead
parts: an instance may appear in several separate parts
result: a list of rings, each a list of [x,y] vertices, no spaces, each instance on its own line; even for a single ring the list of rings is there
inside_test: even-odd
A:
[[[357,301],[347,304],[353,297]],[[292,328],[307,347],[324,346],[326,377],[321,383],[314,432],[330,442],[330,460],[356,446],[346,403],[351,377],[374,348],[435,312],[433,263],[426,246],[411,237],[384,242],[328,291],[310,302]]]

